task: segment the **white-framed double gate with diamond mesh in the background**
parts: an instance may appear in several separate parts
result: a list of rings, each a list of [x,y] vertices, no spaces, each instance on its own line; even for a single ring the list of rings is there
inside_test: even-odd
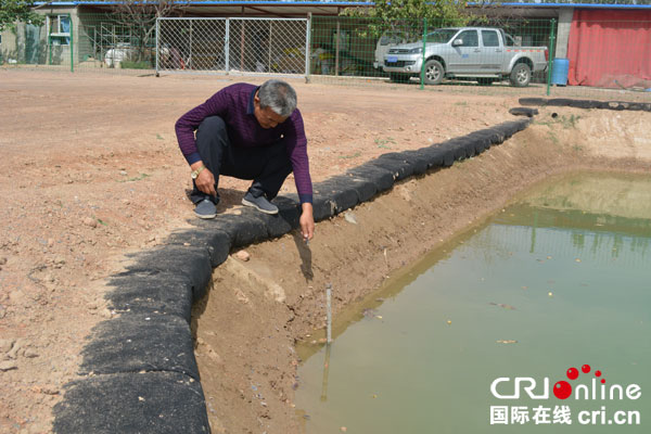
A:
[[[307,74],[307,18],[158,18],[156,72]]]

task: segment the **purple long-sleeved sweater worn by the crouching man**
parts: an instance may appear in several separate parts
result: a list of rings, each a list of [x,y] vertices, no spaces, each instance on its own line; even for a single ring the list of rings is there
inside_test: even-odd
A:
[[[181,116],[175,126],[181,152],[188,164],[201,159],[194,131],[208,116],[219,116],[224,119],[230,142],[235,146],[268,146],[283,139],[292,162],[301,203],[311,203],[312,188],[307,158],[307,139],[301,112],[296,108],[282,124],[275,128],[263,128],[254,115],[253,98],[257,89],[256,86],[244,82],[226,87]]]

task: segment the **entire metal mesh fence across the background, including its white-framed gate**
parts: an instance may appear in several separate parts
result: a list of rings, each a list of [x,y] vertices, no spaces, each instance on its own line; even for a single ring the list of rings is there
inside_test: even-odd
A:
[[[457,35],[458,46],[448,41],[447,53],[434,53],[432,47],[449,36],[441,29],[456,23],[202,17],[158,18],[152,28],[138,28],[111,13],[78,12],[4,31],[0,64],[113,74],[292,74],[332,84],[392,81],[505,94],[527,84],[529,94],[612,98],[604,92],[618,91],[651,99],[649,21],[492,20]]]

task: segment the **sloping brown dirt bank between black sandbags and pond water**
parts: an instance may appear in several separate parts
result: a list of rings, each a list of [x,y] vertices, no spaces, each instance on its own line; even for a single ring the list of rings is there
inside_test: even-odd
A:
[[[193,308],[213,432],[302,432],[293,406],[299,361],[294,344],[319,343],[322,333],[315,329],[324,327],[327,283],[336,316],[392,272],[549,176],[648,171],[648,116],[544,107],[532,126],[499,146],[321,221],[307,247],[288,234],[246,247],[247,261],[230,256]]]

